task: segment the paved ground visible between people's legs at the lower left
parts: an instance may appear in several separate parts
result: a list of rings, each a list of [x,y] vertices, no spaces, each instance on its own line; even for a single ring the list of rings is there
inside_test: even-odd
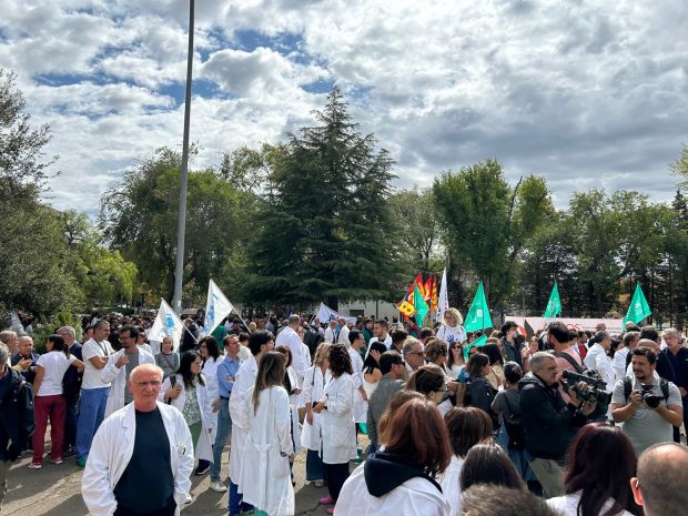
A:
[[[367,443],[366,443],[367,444]],[[227,447],[229,449],[229,447]],[[227,472],[229,453],[223,457],[222,471]],[[87,516],[81,499],[81,468],[73,459],[65,459],[55,466],[45,459],[42,469],[29,469],[30,457],[17,462],[10,471],[9,493],[0,514],[2,516]],[[356,465],[352,463],[352,469]],[[325,516],[325,509],[317,505],[321,496],[327,495],[327,488],[304,486],[305,453],[296,457],[294,465],[296,476],[296,515]],[[229,484],[229,480],[226,480]],[[184,508],[182,516],[226,515],[227,494],[215,493],[209,488],[210,478],[192,476],[193,502]]]

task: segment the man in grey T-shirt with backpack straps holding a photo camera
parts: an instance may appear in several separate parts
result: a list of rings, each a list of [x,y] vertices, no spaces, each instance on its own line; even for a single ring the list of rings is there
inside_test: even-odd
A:
[[[678,387],[656,377],[657,353],[649,347],[631,352],[633,378],[619,380],[611,395],[611,417],[621,424],[640,455],[654,444],[672,439],[672,425],[684,422]]]

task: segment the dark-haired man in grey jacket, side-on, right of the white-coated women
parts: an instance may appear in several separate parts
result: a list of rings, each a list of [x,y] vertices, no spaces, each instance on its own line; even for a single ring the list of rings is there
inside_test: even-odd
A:
[[[368,399],[367,431],[371,438],[368,455],[375,453],[380,446],[378,428],[380,418],[389,406],[389,399],[404,386],[403,377],[405,371],[404,360],[395,351],[387,351],[380,357],[380,371],[383,376],[377,383],[377,387]]]

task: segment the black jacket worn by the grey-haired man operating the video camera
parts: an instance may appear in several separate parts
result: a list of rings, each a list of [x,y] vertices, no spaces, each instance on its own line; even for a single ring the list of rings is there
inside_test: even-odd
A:
[[[564,461],[569,443],[587,417],[564,402],[556,384],[547,386],[533,373],[518,382],[518,391],[526,449],[536,458]]]

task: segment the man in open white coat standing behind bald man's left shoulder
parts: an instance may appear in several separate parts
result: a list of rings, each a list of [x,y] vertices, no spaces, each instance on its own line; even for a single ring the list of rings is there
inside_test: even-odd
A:
[[[155,365],[155,357],[136,345],[139,330],[128,325],[120,330],[122,348],[108,357],[108,363],[100,372],[103,383],[111,383],[105,417],[133,401],[133,393],[129,389],[128,380],[131,372],[139,365]]]

